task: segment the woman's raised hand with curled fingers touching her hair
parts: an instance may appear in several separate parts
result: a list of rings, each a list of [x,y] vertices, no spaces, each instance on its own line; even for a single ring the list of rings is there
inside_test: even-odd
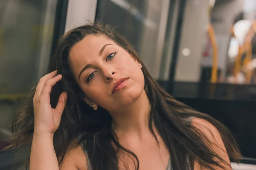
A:
[[[52,86],[62,78],[61,74],[53,71],[42,77],[36,87],[34,96],[34,132],[53,134],[59,127],[61,115],[67,101],[67,92],[62,92],[56,108],[50,104],[50,92]]]

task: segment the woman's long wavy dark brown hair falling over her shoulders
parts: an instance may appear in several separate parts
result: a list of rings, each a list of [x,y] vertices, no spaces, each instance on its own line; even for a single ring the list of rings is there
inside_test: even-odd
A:
[[[153,126],[156,127],[169,150],[173,169],[193,169],[193,162],[195,160],[210,170],[213,170],[213,168],[209,164],[221,168],[224,168],[223,163],[227,164],[206,143],[206,136],[184,119],[190,116],[205,119],[212,123],[221,134],[229,157],[235,161],[241,159],[236,141],[227,127],[211,116],[195,111],[189,106],[178,102],[166,93],[150,76],[134,48],[124,37],[114,33],[110,26],[94,23],[74,28],[58,40],[55,56],[50,62],[47,72],[50,73],[57,70],[58,74],[63,75],[61,81],[57,82],[52,88],[50,94],[52,107],[56,106],[61,92],[67,91],[68,94],[60,126],[54,133],[54,148],[59,164],[63,161],[70,144],[79,139],[77,146],[82,144],[87,150],[88,161],[90,161],[93,170],[118,170],[118,152],[128,154],[134,160],[134,169],[139,169],[139,160],[136,154],[123,147],[113,132],[111,128],[113,120],[111,115],[101,107],[93,111],[82,100],[81,95],[83,92],[73,77],[69,62],[70,49],[87,35],[104,35],[108,37],[136,57],[142,64],[142,71],[145,77],[144,89],[151,105],[148,117],[149,129],[157,140],[153,131]],[[17,113],[12,125],[14,134],[13,144],[7,149],[19,148],[32,141],[34,94],[35,88],[22,100],[20,111]],[[29,164],[29,160],[26,164]]]

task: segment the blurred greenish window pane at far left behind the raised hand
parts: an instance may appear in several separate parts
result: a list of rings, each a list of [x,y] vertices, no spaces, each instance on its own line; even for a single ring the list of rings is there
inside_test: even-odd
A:
[[[57,0],[1,0],[0,149],[11,136],[19,99],[48,64]],[[20,159],[0,152],[0,169],[17,169]]]

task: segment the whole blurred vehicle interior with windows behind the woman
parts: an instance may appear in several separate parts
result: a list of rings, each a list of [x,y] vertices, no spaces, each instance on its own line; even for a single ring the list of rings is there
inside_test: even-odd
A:
[[[256,169],[256,0],[1,0],[0,149],[58,38],[87,21],[116,27],[169,94],[230,128],[234,170]],[[24,159],[0,152],[0,170]]]

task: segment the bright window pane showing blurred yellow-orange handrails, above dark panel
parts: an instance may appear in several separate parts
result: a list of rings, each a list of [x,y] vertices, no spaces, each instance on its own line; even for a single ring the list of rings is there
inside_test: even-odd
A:
[[[182,29],[176,81],[256,83],[256,1],[187,1]]]

